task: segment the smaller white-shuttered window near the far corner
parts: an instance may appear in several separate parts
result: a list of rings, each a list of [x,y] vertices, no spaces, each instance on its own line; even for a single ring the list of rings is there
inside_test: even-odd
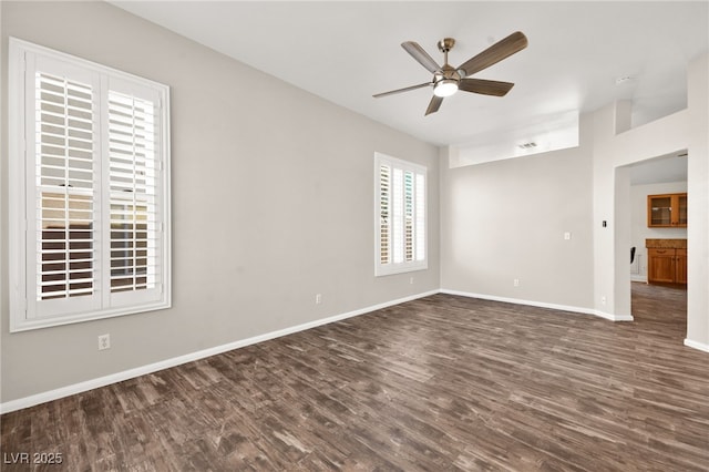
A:
[[[427,168],[376,153],[374,170],[374,275],[425,269]]]

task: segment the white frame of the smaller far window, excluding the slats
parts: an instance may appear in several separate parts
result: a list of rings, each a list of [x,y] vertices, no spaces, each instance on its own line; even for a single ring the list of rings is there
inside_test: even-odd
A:
[[[381,168],[388,166],[391,175],[401,173],[402,181],[391,182],[388,191],[389,202],[389,224],[388,247],[389,260],[382,261],[382,178]],[[413,224],[412,224],[412,258],[405,260],[407,246],[402,242],[405,239],[404,218],[404,189],[403,175],[413,174]],[[387,192],[384,189],[384,192]],[[428,248],[428,168],[425,166],[389,156],[382,153],[374,153],[374,276],[387,276],[391,274],[402,274],[414,270],[424,270],[429,267]]]

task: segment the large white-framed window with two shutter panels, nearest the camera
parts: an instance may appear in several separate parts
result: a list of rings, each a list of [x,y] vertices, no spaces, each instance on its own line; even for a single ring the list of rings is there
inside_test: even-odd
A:
[[[169,307],[168,88],[10,40],[10,329]]]

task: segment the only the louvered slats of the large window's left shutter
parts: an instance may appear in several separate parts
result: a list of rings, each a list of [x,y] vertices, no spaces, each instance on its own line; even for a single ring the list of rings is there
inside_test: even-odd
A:
[[[92,117],[90,85],[37,74],[42,299],[93,293]]]

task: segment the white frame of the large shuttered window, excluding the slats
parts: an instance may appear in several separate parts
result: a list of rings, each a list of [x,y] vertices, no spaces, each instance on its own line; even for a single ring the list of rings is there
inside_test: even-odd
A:
[[[35,142],[37,138],[31,135],[35,120],[35,88],[32,83],[35,81],[35,71],[42,73],[51,73],[42,70],[42,65],[52,64],[56,70],[76,71],[86,78],[90,78],[92,91],[96,96],[92,103],[95,104],[93,117],[93,154],[91,162],[93,163],[93,198],[91,235],[93,244],[91,252],[93,254],[93,263],[90,271],[92,273],[92,295],[86,296],[66,296],[62,299],[45,299],[38,295],[38,285],[40,284],[38,269],[38,250],[37,242],[38,224],[41,208],[37,208],[37,192],[40,191],[37,173]],[[58,64],[58,65],[54,65]],[[171,297],[171,197],[169,197],[169,88],[167,85],[142,79],[125,72],[117,71],[94,62],[90,62],[70,54],[58,52],[41,45],[32,44],[16,38],[9,41],[9,279],[10,279],[10,331],[25,331],[30,329],[47,328],[59,325],[81,322],[94,319],[116,317],[123,315],[132,315],[150,310],[169,308],[172,305]],[[69,72],[68,72],[69,73]],[[68,75],[68,76],[73,76]],[[142,264],[153,264],[154,274],[160,274],[160,280],[151,277],[153,269],[142,269],[147,271],[138,273],[138,266],[135,267],[135,274],[148,274],[141,279],[151,280],[147,289],[133,289],[129,291],[116,291],[111,289],[111,254],[110,236],[111,236],[111,197],[110,181],[111,161],[109,157],[109,96],[116,94],[127,94],[126,96],[135,96],[136,100],[147,96],[151,103],[155,103],[155,122],[156,129],[150,136],[155,138],[155,151],[151,160],[152,175],[151,183],[151,208],[156,208],[155,218],[157,224],[150,223],[150,232],[152,236],[135,236],[152,238],[145,246],[137,246],[138,243],[133,239],[134,257],[138,258],[140,267],[146,267]],[[132,115],[137,116],[137,115]],[[152,116],[152,115],[150,115]],[[134,117],[135,120],[135,117]],[[135,123],[135,121],[134,121]],[[141,122],[142,123],[142,122]],[[141,154],[142,155],[142,154]],[[42,161],[43,162],[43,161]],[[154,164],[153,164],[154,163]],[[42,164],[44,165],[44,164]],[[135,168],[135,165],[133,168]],[[144,174],[131,174],[144,175]],[[154,178],[153,178],[154,176]],[[135,182],[135,181],[134,181]],[[134,184],[135,185],[135,184]],[[69,193],[69,191],[66,191]],[[115,192],[115,191],[114,191]],[[132,191],[126,191],[132,192]],[[73,194],[73,192],[72,192]],[[45,195],[42,193],[42,195]],[[42,196],[44,198],[44,196]],[[136,198],[136,197],[133,197]],[[42,206],[44,199],[42,199]],[[138,202],[133,199],[133,202]],[[134,205],[136,205],[134,203]],[[137,211],[136,206],[132,206]],[[145,211],[145,207],[140,207]],[[134,216],[135,218],[135,216]],[[135,219],[132,219],[135,220]],[[137,229],[148,225],[147,223],[136,226],[133,224],[134,232],[143,232]],[[145,226],[148,227],[148,226]],[[44,229],[40,228],[40,232]],[[141,233],[141,235],[147,233]],[[140,239],[142,240],[142,239]],[[127,244],[127,243],[126,243]],[[143,243],[141,243],[143,244]],[[127,247],[127,246],[126,246]],[[147,256],[137,256],[138,247],[145,247],[141,254]],[[155,256],[155,258],[153,257]],[[124,256],[123,256],[124,257]],[[143,261],[151,259],[151,263]],[[135,260],[138,260],[135,259]],[[34,268],[32,268],[34,265]],[[65,269],[66,270],[66,269]],[[32,279],[34,277],[34,279]],[[66,276],[69,277],[69,276]],[[138,277],[137,275],[135,276]],[[106,281],[107,280],[107,281]],[[86,301],[91,298],[90,301]],[[59,308],[58,308],[59,307]]]

